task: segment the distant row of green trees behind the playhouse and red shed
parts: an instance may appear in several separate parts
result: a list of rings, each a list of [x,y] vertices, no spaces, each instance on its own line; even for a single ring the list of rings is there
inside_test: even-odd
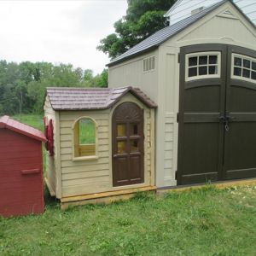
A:
[[[41,113],[45,88],[51,86],[107,87],[108,71],[94,76],[70,64],[0,61],[0,115]]]

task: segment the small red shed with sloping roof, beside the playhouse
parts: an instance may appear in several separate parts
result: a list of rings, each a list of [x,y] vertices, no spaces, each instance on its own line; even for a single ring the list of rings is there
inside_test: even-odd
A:
[[[41,131],[0,118],[0,215],[44,212]]]

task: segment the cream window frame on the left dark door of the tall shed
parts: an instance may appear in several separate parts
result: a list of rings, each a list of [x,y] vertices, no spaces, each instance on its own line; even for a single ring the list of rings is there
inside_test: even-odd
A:
[[[189,77],[189,58],[190,57],[197,57],[201,55],[217,55],[217,64],[207,64],[207,65],[201,65],[201,66],[218,66],[218,73],[216,74],[207,74],[207,75],[197,75],[194,77]],[[191,66],[194,67],[194,66]],[[197,64],[195,67],[199,67],[199,64]],[[194,52],[186,55],[185,58],[185,81],[193,81],[198,79],[219,79],[221,73],[221,52],[220,51],[203,51],[203,52]]]

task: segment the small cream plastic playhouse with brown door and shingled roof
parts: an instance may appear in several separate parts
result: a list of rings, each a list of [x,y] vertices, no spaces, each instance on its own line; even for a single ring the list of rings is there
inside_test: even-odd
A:
[[[46,183],[61,206],[154,189],[154,108],[142,90],[48,88]]]

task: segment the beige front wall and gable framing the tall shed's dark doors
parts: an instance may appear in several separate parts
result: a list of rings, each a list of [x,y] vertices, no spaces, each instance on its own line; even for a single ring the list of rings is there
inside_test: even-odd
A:
[[[227,9],[230,10],[233,17],[228,18],[222,15]],[[162,152],[165,159],[160,160],[157,166],[158,186],[176,183],[179,99],[178,53],[180,47],[191,44],[235,44],[256,49],[256,35],[253,26],[248,24],[247,20],[230,3],[226,3],[160,45],[159,99],[161,98],[161,103],[159,104],[158,113],[161,117],[158,118],[160,119],[159,123],[165,124],[165,127],[158,123],[157,129],[161,132],[157,134],[158,139],[160,138],[161,141],[165,142],[165,152]],[[164,136],[161,134],[164,134]],[[164,172],[159,170],[164,170]]]

